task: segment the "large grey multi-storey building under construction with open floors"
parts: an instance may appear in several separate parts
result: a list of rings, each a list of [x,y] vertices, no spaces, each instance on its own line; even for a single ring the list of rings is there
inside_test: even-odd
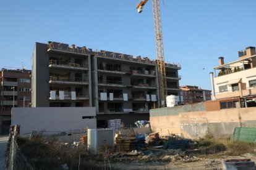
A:
[[[36,42],[32,61],[32,107],[96,107],[98,127],[117,118],[134,124],[160,107],[157,63],[148,57]],[[165,67],[168,95],[179,95],[181,66]]]

